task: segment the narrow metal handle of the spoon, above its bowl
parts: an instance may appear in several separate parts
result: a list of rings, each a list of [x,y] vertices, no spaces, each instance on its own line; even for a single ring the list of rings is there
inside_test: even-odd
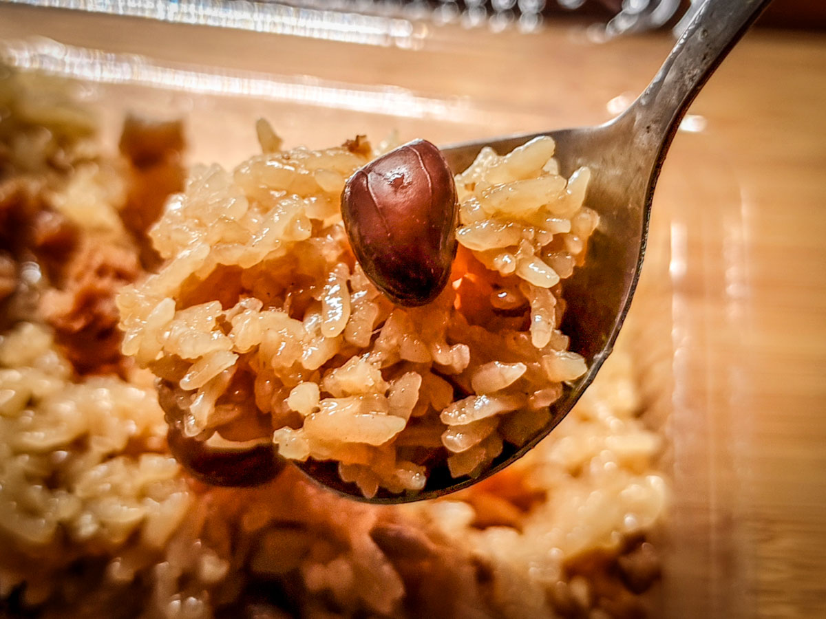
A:
[[[769,2],[706,0],[652,82],[623,115],[634,120],[638,146],[662,158],[700,88]]]

